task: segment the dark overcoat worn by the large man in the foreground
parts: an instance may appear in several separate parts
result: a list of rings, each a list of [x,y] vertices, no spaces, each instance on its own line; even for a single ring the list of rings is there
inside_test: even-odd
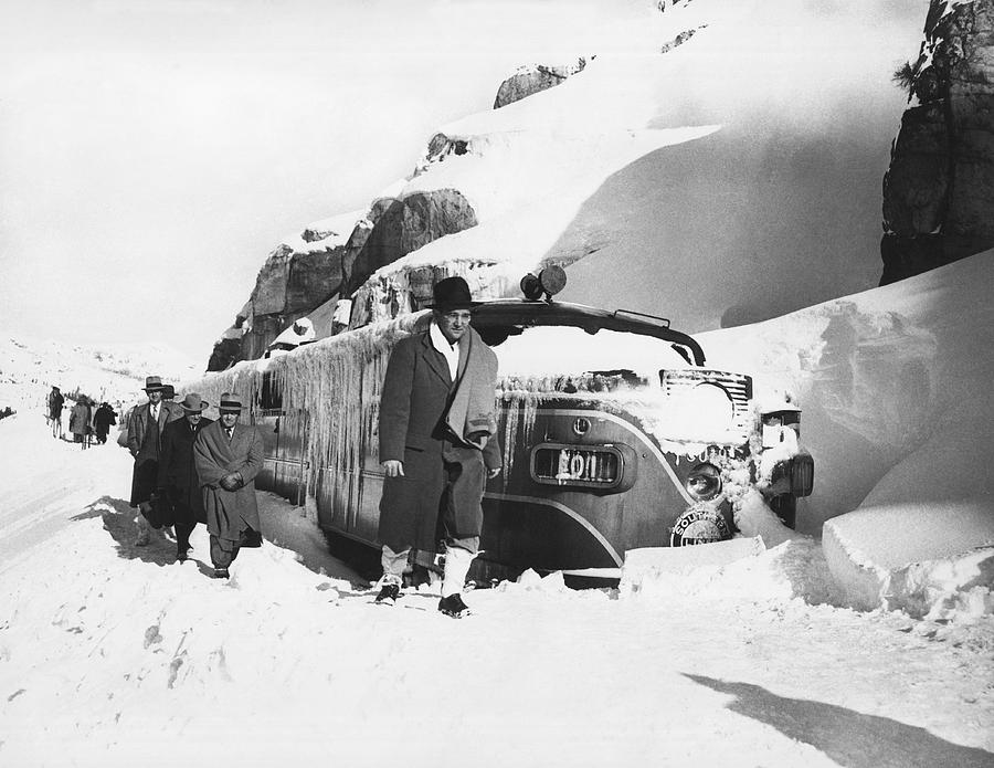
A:
[[[484,344],[468,335],[474,344]],[[458,375],[465,370],[468,345],[459,343]],[[435,551],[443,492],[454,464],[478,473],[479,487],[448,514],[450,535],[479,536],[483,526],[484,466],[500,466],[496,436],[484,451],[461,444],[445,427],[453,381],[448,364],[432,345],[429,330],[401,339],[390,355],[380,398],[380,462],[403,462],[404,474],[387,477],[380,499],[378,538],[395,551],[415,547]],[[452,464],[447,465],[447,462]],[[459,470],[455,470],[459,471]]]

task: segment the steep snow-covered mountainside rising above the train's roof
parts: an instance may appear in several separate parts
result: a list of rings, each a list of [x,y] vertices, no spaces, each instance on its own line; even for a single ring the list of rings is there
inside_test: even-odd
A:
[[[464,151],[384,196],[456,189],[479,223],[381,267],[360,305],[403,306],[406,272],[424,265],[482,297],[516,294],[551,260],[569,265],[564,301],[698,332],[876,284],[903,105],[890,73],[921,19],[873,2],[659,6],[595,36],[562,84],[441,126]]]

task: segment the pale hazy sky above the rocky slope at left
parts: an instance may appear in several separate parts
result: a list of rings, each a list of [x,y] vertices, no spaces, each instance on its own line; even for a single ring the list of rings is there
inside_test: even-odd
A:
[[[605,4],[0,0],[0,328],[205,359],[283,238],[645,12]]]

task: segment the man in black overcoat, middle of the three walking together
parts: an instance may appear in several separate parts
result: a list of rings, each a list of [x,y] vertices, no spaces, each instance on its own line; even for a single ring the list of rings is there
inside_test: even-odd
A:
[[[207,523],[203,494],[193,464],[193,441],[204,427],[213,423],[203,417],[208,404],[200,394],[190,392],[179,403],[183,418],[170,421],[162,431],[157,494],[169,499],[172,508],[178,562],[187,559],[193,528],[198,523]]]

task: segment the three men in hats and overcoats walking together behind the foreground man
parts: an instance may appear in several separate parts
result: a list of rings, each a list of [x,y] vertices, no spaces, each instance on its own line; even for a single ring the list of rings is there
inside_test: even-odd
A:
[[[148,402],[128,417],[127,444],[135,459],[130,506],[142,547],[151,529],[175,527],[176,559],[188,559],[190,534],[198,523],[210,533],[215,578],[228,578],[242,547],[262,546],[255,475],[262,469],[258,430],[240,421],[241,399],[225,392],[220,418],[203,415],[210,403],[199,393],[181,402],[162,398],[169,386],[158,376],[146,378]]]

